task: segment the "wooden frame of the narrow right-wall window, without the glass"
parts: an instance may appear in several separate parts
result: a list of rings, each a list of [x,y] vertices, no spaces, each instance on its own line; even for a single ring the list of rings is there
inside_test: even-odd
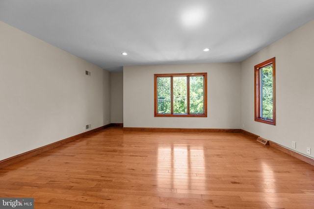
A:
[[[266,119],[261,117],[261,83],[260,83],[260,69],[272,64],[273,66],[273,118],[272,119]],[[255,121],[267,123],[271,125],[276,125],[276,64],[275,64],[275,57],[266,60],[256,66],[254,66],[254,83],[255,83]]]

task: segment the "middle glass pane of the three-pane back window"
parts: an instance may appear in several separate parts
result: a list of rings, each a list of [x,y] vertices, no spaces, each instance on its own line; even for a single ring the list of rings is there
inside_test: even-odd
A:
[[[173,77],[173,113],[187,114],[186,76]]]

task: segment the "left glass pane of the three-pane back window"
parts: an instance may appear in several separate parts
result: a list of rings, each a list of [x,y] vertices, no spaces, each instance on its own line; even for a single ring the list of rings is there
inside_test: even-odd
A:
[[[171,113],[171,79],[170,77],[157,78],[157,113]]]

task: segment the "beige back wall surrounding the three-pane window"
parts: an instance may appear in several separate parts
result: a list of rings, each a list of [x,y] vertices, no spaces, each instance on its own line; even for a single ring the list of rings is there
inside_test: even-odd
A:
[[[208,73],[208,117],[155,117],[155,73]],[[240,63],[132,66],[123,69],[124,127],[240,128]]]

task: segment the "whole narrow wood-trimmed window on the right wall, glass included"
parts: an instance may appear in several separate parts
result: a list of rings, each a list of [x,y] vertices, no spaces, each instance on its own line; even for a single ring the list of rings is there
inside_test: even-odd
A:
[[[276,125],[275,57],[254,67],[255,121]]]

